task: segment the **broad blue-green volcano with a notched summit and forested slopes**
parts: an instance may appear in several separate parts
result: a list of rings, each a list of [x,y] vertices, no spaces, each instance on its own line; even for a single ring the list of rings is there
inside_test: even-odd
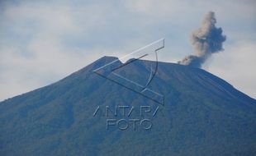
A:
[[[255,99],[207,71],[157,62],[147,85],[157,103],[93,72],[116,59],[2,101],[0,155],[256,155]],[[154,63],[116,73],[143,84]]]

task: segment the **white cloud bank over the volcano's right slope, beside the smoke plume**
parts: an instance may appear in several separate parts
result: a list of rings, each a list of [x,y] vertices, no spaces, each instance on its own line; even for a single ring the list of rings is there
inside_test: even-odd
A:
[[[214,54],[206,62],[206,71],[227,80],[236,89],[256,98],[256,41],[230,44],[222,53]]]

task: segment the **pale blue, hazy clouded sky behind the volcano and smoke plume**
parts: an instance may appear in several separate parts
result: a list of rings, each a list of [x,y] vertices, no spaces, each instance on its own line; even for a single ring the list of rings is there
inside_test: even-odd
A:
[[[194,52],[189,36],[208,11],[227,40],[202,68],[256,99],[255,8],[254,0],[0,0],[0,101],[161,38],[159,61],[178,62]]]

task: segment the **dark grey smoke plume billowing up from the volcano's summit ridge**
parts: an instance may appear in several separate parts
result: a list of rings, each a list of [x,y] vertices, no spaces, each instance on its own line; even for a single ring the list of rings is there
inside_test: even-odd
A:
[[[226,37],[222,34],[221,28],[216,28],[216,17],[213,11],[209,11],[202,21],[201,28],[192,32],[191,41],[195,48],[195,53],[183,58],[179,64],[192,67],[201,67],[212,53],[222,50],[222,43]]]

